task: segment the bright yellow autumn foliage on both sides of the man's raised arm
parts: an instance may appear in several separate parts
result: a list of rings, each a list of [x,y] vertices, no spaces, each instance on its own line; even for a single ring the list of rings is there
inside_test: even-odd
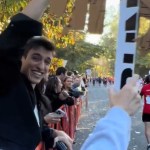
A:
[[[10,17],[21,11],[30,0],[0,0],[0,32],[5,29]],[[45,11],[41,21],[44,25],[43,33],[51,39],[57,48],[65,48],[74,45],[76,41],[83,39],[83,35],[76,31],[63,34],[63,29],[69,24],[74,8],[75,0],[68,0],[65,12],[57,17],[50,13],[50,8]],[[78,36],[75,36],[75,35]]]

